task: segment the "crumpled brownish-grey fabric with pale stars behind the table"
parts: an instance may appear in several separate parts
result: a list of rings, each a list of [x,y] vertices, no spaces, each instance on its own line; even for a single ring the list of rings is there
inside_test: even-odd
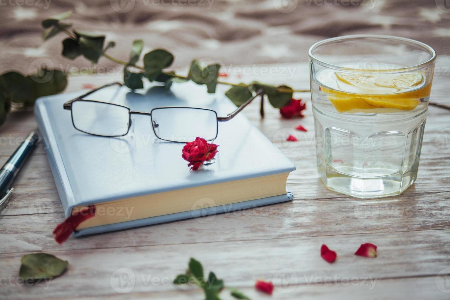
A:
[[[161,47],[175,54],[173,67],[193,58],[304,62],[316,41],[362,33],[413,38],[450,54],[446,0],[0,0],[0,72],[89,66],[60,55],[63,34],[41,40],[41,20],[69,9],[74,27],[117,42],[110,55],[127,60],[132,41],[143,39],[143,53]],[[117,64],[101,58],[99,66]]]

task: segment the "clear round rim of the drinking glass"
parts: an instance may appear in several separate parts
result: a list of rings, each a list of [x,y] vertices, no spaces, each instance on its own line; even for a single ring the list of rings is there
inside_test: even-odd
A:
[[[355,34],[355,35],[347,35],[347,36],[337,36],[337,37],[332,37],[332,38],[325,39],[325,40],[320,40],[310,47],[310,49],[308,50],[308,56],[312,61],[314,61],[315,63],[319,63],[324,67],[330,67],[333,69],[345,71],[345,70],[348,70],[349,68],[348,67],[340,67],[333,63],[327,63],[327,62],[315,57],[314,54],[312,54],[312,52],[317,47],[327,44],[327,43],[330,43],[330,42],[334,42],[334,41],[338,41],[338,40],[366,39],[366,38],[376,38],[379,40],[393,39],[393,40],[400,40],[403,42],[409,42],[409,43],[413,43],[415,45],[422,46],[423,48],[427,49],[430,52],[430,54],[432,54],[432,57],[423,63],[415,64],[415,65],[408,66],[408,67],[392,69],[392,70],[389,70],[389,72],[402,72],[402,71],[410,71],[411,69],[419,69],[428,64],[434,63],[434,61],[436,60],[436,51],[431,46],[429,46],[423,42],[419,42],[418,40],[413,40],[413,39],[409,39],[409,38],[401,37],[401,36],[388,36],[388,35],[376,35],[376,34]],[[355,70],[353,70],[353,71],[355,71]]]

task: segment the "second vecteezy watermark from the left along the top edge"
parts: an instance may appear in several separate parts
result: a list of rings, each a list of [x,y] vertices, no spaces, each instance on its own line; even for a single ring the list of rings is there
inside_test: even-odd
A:
[[[135,8],[137,0],[109,0],[112,9],[117,13],[129,13]],[[139,0],[144,6],[199,6],[211,9],[214,0]]]

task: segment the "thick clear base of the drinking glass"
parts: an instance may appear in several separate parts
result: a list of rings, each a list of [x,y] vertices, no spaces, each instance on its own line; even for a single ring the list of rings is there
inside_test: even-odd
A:
[[[361,199],[380,198],[400,195],[409,188],[417,178],[419,161],[406,171],[391,175],[359,177],[339,172],[329,166],[318,166],[320,178],[332,191]],[[385,170],[386,171],[386,170]]]

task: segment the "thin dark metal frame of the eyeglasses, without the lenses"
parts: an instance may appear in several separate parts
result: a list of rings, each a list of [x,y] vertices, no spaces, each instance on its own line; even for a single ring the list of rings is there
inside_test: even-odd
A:
[[[233,119],[239,112],[241,112],[241,111],[244,109],[244,107],[246,107],[248,104],[250,104],[250,103],[253,101],[253,99],[255,99],[255,98],[257,98],[258,96],[261,96],[261,95],[263,94],[263,90],[262,90],[262,89],[261,89],[261,90],[258,90],[257,93],[256,93],[255,95],[253,95],[252,97],[250,97],[250,98],[249,98],[246,102],[244,102],[241,106],[239,106],[238,108],[236,108],[236,109],[234,110],[234,112],[231,112],[231,113],[229,113],[227,116],[224,116],[224,117],[217,116],[217,112],[216,112],[215,110],[212,110],[212,109],[209,109],[209,108],[202,108],[202,107],[167,106],[167,107],[155,107],[155,108],[153,108],[150,112],[142,112],[142,111],[132,111],[132,110],[130,109],[130,107],[128,107],[128,106],[126,106],[126,105],[117,104],[117,103],[110,103],[110,102],[105,102],[105,101],[100,101],[100,100],[83,99],[83,98],[85,98],[86,96],[88,96],[88,95],[90,95],[90,94],[92,94],[92,93],[94,93],[94,92],[96,92],[96,91],[98,91],[98,90],[101,90],[101,89],[103,89],[103,88],[106,88],[106,87],[109,87],[109,86],[112,86],[112,85],[120,85],[120,86],[122,86],[122,84],[121,84],[120,82],[112,82],[112,83],[109,83],[109,84],[107,84],[107,85],[100,86],[99,88],[96,88],[96,89],[94,89],[94,90],[90,90],[90,91],[87,92],[86,94],[82,94],[81,96],[78,96],[78,97],[76,97],[76,98],[74,98],[74,99],[72,99],[72,100],[69,100],[69,101],[67,101],[66,103],[63,104],[63,109],[70,110],[70,115],[71,115],[71,119],[72,119],[72,125],[73,125],[73,127],[74,127],[76,130],[81,131],[81,132],[83,132],[83,133],[85,133],[85,134],[90,134],[90,135],[94,135],[94,136],[101,136],[101,137],[106,137],[106,138],[121,137],[121,136],[127,135],[127,134],[130,132],[130,128],[131,128],[131,115],[132,115],[132,114],[136,114],[136,115],[146,115],[146,116],[150,116],[150,120],[151,120],[151,122],[152,122],[153,133],[155,134],[155,136],[156,136],[158,139],[162,139],[161,137],[158,136],[158,134],[157,134],[156,131],[155,131],[155,126],[154,126],[154,123],[153,123],[152,112],[153,112],[154,110],[157,110],[157,109],[163,109],[163,108],[191,108],[191,109],[202,109],[202,110],[207,110],[207,111],[214,112],[214,114],[216,115],[216,123],[217,123],[217,124],[216,124],[216,136],[214,137],[214,139],[216,139],[216,138],[217,138],[217,135],[219,134],[219,122],[226,122],[226,121],[229,121],[229,120]],[[93,134],[93,133],[90,133],[90,132],[87,132],[87,131],[84,131],[84,130],[81,130],[81,129],[77,128],[77,127],[75,126],[75,122],[73,121],[73,112],[72,112],[72,103],[74,103],[74,102],[76,102],[76,101],[104,103],[104,104],[115,105],[115,106],[118,106],[118,107],[124,107],[124,108],[126,108],[126,109],[128,110],[128,116],[129,116],[129,120],[128,120],[128,130],[126,131],[125,134],[121,134],[121,135],[102,135],[102,134]],[[208,140],[208,141],[211,141],[211,140],[214,140],[214,139],[210,139],[210,140]],[[162,139],[162,140],[168,141],[168,142],[175,142],[175,143],[184,143],[184,142],[172,141],[172,140],[169,140],[169,139]]]

